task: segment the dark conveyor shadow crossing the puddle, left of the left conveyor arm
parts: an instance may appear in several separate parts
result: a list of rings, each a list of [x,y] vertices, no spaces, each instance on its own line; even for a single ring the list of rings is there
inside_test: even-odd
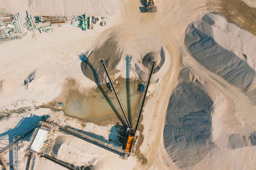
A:
[[[92,76],[93,80],[95,81],[97,87],[99,88],[100,92],[103,94],[103,96],[106,99],[106,101],[108,101],[108,104],[111,107],[111,109],[115,112],[116,117],[118,117],[118,119],[124,125],[124,127],[127,128],[123,118],[118,113],[118,110],[116,110],[116,107],[112,103],[111,99],[108,97],[107,91],[105,90],[103,85],[100,84],[100,80],[99,80],[99,76],[98,76],[98,73],[97,73],[97,69],[92,66],[92,64],[88,60],[88,57],[86,57],[86,55],[84,55],[84,54],[79,55],[79,58],[82,60],[82,62],[81,62],[81,69],[83,71],[84,76],[88,76],[87,74],[91,74],[91,76]],[[90,68],[90,72],[91,73],[88,73],[88,70],[87,70],[87,72],[85,71],[87,66]]]

